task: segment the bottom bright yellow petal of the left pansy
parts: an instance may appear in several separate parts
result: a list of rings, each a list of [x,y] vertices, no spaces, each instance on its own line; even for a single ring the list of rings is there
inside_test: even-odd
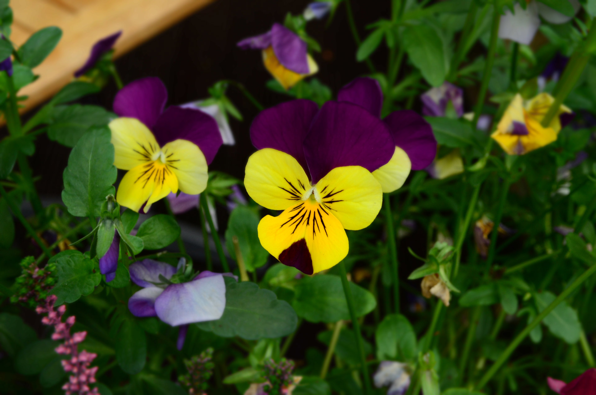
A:
[[[147,202],[144,209],[147,212],[152,203],[170,192],[178,192],[176,175],[163,163],[154,161],[138,165],[124,175],[116,200],[121,206],[136,212]]]

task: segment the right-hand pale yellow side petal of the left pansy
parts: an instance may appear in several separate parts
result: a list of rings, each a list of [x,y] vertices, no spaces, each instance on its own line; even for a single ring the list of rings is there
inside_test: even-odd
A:
[[[162,148],[167,167],[178,178],[178,188],[189,195],[198,195],[207,187],[207,161],[196,144],[174,140]]]

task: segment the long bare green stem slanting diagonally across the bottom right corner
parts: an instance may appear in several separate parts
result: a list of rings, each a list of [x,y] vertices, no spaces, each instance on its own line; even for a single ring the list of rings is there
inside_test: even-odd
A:
[[[564,289],[564,291],[561,292],[561,294],[558,295],[558,297],[555,298],[555,300],[552,301],[551,304],[549,304],[544,310],[542,310],[542,313],[538,314],[538,316],[536,316],[536,318],[528,326],[526,326],[526,328],[522,332],[520,332],[520,334],[517,335],[513,341],[511,341],[507,348],[505,348],[505,351],[503,351],[501,353],[501,356],[499,356],[495,363],[493,363],[491,369],[489,369],[489,371],[486,372],[482,379],[480,379],[480,382],[476,385],[475,389],[482,390],[482,388],[484,388],[486,383],[489,382],[489,380],[495,375],[499,368],[501,368],[501,366],[505,362],[507,362],[507,360],[511,356],[511,353],[513,353],[517,346],[524,340],[524,338],[526,338],[527,335],[530,334],[530,332],[532,332],[532,329],[539,325],[539,323],[542,322],[544,317],[548,316],[548,314],[550,314],[551,311],[555,309],[555,307],[557,307],[562,301],[564,301],[565,298],[569,296],[569,294],[575,291],[575,289],[578,288],[578,286],[581,285],[586,279],[588,279],[589,276],[594,274],[594,271],[596,271],[596,264],[592,264],[592,266],[590,266],[588,270],[584,271],[581,274],[581,276],[576,278],[575,281],[573,281],[573,283],[567,286],[567,288]]]

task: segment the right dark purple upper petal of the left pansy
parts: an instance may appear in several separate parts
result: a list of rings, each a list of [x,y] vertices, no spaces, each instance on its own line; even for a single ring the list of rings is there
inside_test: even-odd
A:
[[[219,147],[224,144],[222,135],[215,119],[197,109],[183,109],[182,107],[168,107],[157,119],[153,134],[160,146],[170,141],[188,140],[197,144],[207,159],[209,165]]]

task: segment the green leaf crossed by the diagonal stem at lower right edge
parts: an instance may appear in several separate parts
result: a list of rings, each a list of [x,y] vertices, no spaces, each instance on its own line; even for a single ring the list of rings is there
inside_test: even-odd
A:
[[[535,294],[534,296],[539,313],[557,298],[552,292],[548,291]],[[544,322],[553,335],[569,344],[575,344],[582,332],[578,313],[566,301],[557,305],[548,316],[544,317],[542,322]]]

